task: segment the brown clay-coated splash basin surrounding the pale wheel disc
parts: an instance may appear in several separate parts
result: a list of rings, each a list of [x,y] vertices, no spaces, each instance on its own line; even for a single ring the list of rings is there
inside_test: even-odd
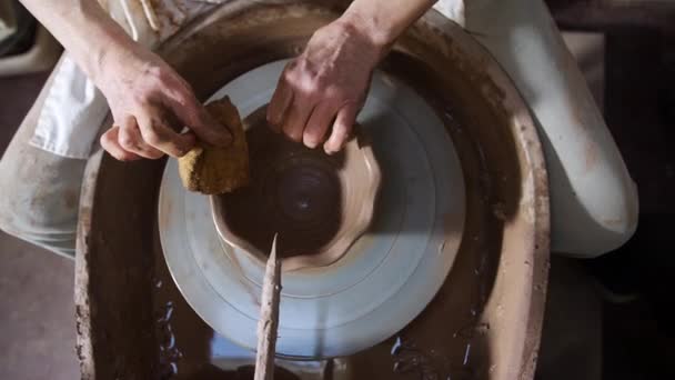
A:
[[[206,97],[254,67],[299,52],[336,8],[333,1],[229,2],[169,41],[163,54]],[[548,266],[548,199],[528,112],[485,51],[434,13],[401,39],[382,68],[443,118],[464,170],[465,231],[426,310],[345,366],[355,379],[532,379]],[[208,363],[212,332],[180,294],[155,291],[153,273],[162,264],[151,237],[162,167],[110,157],[90,163],[77,258],[84,378],[238,378]],[[170,342],[181,352],[169,372],[155,314],[165,316],[168,302],[175,318]]]

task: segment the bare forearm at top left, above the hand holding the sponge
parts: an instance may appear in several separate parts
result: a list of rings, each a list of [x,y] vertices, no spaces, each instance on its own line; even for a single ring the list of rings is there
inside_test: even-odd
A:
[[[20,0],[94,82],[107,56],[137,46],[97,0]]]

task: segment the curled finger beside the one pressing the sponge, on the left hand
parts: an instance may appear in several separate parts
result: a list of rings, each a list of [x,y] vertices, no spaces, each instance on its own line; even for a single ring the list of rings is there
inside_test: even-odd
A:
[[[163,120],[159,118],[160,114],[155,107],[148,106],[145,112],[137,116],[143,140],[149,146],[171,157],[183,157],[194,146],[194,136],[175,132],[167,127]]]

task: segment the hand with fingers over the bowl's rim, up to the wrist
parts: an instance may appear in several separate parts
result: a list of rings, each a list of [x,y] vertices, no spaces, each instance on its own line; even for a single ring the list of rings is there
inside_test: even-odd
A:
[[[346,17],[316,30],[302,54],[284,69],[268,121],[309,148],[325,141],[326,153],[339,151],[365,102],[383,51]]]

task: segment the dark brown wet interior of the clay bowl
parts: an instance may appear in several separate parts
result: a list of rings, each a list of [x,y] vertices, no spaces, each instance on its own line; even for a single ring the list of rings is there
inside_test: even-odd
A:
[[[343,222],[338,171],[344,157],[329,157],[273,132],[265,122],[258,122],[264,111],[246,120],[251,124],[246,130],[251,186],[219,197],[224,223],[265,254],[274,233],[279,233],[280,257],[314,254]]]

